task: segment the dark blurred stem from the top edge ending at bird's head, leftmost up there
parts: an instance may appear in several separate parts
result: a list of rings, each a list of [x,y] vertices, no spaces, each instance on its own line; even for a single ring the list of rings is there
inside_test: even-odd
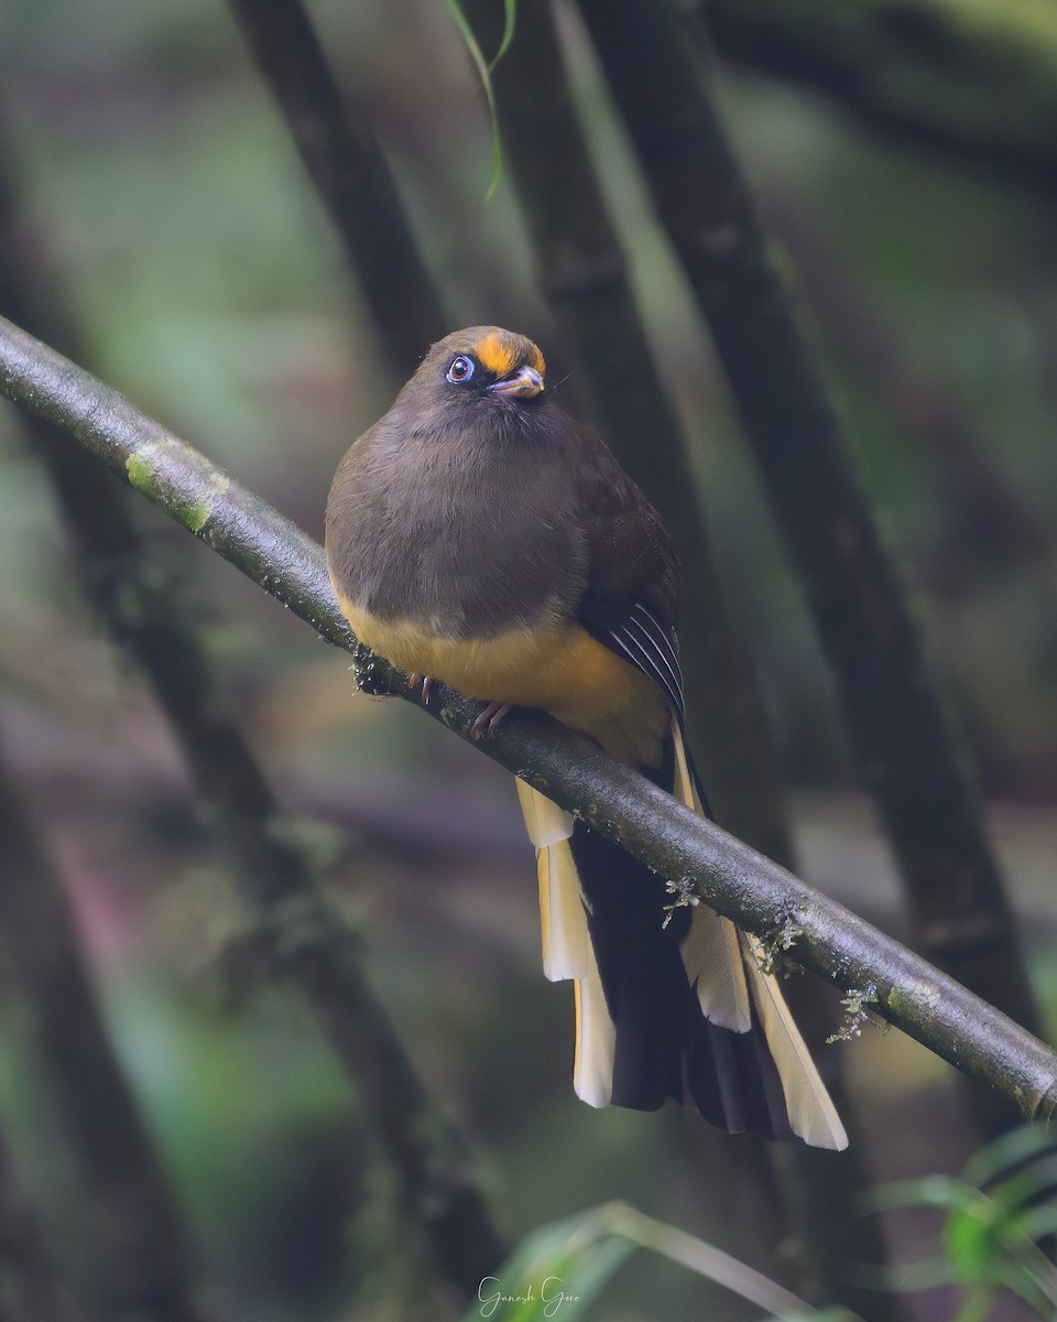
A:
[[[451,329],[370,124],[342,102],[300,0],[229,0],[341,237],[396,379]]]

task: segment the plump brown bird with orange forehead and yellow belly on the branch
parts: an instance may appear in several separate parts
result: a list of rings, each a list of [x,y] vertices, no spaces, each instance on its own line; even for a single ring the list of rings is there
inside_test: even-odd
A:
[[[686,748],[679,561],[539,348],[499,327],[432,345],[341,460],[326,559],[359,642],[421,681],[579,730],[710,814]],[[728,1133],[847,1145],[754,939],[518,780],[543,968],[575,988],[573,1088],[593,1107],[695,1107]]]

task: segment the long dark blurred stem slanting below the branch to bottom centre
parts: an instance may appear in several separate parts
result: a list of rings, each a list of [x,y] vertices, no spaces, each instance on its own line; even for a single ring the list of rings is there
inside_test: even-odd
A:
[[[0,197],[0,229],[11,210]],[[34,300],[21,284],[24,264],[15,272],[12,262],[13,245],[0,245],[4,303],[28,305]],[[61,321],[54,305],[34,312],[38,320]],[[69,328],[54,329],[73,338]],[[256,917],[250,951],[309,1001],[400,1173],[406,1212],[424,1228],[445,1277],[474,1294],[505,1248],[474,1185],[465,1142],[427,1095],[359,973],[354,933],[317,891],[305,857],[276,829],[281,806],[242,731],[215,701],[205,648],[180,612],[178,584],[136,531],[128,493],[53,426],[32,414],[28,422],[77,543],[82,586],[153,683]]]

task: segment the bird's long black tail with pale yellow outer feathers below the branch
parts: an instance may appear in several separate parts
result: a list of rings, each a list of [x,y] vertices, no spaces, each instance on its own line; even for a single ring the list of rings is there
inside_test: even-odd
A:
[[[673,792],[704,813],[673,722]],[[847,1137],[753,937],[518,781],[536,847],[543,970],[576,989],[573,1087],[593,1107],[696,1105],[729,1133]]]

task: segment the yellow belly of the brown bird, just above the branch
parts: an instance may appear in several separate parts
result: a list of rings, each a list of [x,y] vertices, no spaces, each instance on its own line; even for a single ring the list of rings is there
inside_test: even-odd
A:
[[[579,624],[443,639],[411,620],[378,620],[341,594],[338,604],[355,636],[404,670],[433,676],[468,698],[550,711],[632,765],[655,767],[661,760],[667,699]]]

